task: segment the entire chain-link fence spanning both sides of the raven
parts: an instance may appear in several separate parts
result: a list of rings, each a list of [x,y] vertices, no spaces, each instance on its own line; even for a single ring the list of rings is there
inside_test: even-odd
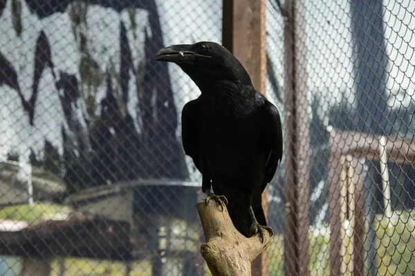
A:
[[[0,275],[209,275],[180,137],[199,89],[153,57],[220,43],[222,1],[0,0],[0,30]],[[266,1],[286,152],[269,275],[413,275],[414,32],[412,0]],[[306,212],[290,217],[298,168]],[[288,259],[299,236],[304,257]]]

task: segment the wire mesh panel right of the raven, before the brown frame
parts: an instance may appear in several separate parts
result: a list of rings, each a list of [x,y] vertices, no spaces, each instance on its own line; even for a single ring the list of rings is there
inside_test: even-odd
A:
[[[308,259],[297,265],[310,275],[413,275],[415,3],[293,1],[295,25],[287,27],[290,2],[266,2],[267,95],[290,85],[284,26],[294,28],[305,41],[293,48],[304,61],[295,70],[306,72],[306,90],[296,92],[308,97],[299,108],[308,110],[311,161],[310,196],[299,199],[309,205],[309,228],[298,229],[307,231]],[[284,97],[274,98],[284,110]],[[268,250],[270,275],[286,272],[284,247],[292,246],[284,244],[286,197],[277,187],[268,195],[279,233]]]

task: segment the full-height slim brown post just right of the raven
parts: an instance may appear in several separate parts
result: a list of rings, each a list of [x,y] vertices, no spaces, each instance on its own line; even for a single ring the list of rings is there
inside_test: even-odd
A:
[[[310,126],[304,2],[284,1],[285,275],[308,275]]]

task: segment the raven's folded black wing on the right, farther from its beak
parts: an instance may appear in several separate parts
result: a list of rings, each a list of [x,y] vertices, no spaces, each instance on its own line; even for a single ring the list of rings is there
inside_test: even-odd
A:
[[[264,183],[261,185],[261,192],[265,189],[275,175],[277,166],[282,159],[282,124],[281,117],[277,108],[265,100],[261,106],[261,140],[264,142],[264,150],[266,152],[266,166]]]

